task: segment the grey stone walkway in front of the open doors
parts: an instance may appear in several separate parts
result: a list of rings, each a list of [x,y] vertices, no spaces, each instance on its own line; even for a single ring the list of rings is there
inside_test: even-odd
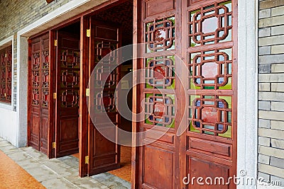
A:
[[[131,188],[131,184],[111,173],[80,178],[78,176],[78,159],[65,156],[48,159],[45,154],[31,147],[16,148],[0,138],[0,150],[27,171],[45,188]]]

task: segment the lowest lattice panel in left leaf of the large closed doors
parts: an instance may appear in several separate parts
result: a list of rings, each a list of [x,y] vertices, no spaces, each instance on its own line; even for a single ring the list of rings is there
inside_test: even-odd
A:
[[[175,127],[175,95],[146,93],[144,111],[146,124]]]

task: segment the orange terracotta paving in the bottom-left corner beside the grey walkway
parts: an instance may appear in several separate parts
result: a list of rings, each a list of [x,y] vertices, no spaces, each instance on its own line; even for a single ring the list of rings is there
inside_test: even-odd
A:
[[[45,188],[0,151],[0,188]]]

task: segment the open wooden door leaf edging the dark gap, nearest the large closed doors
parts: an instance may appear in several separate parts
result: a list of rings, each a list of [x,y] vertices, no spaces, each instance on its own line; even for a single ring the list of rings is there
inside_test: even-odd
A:
[[[90,65],[89,65],[89,76],[91,76],[94,67],[97,63],[109,52],[116,50],[120,47],[121,38],[119,37],[119,27],[116,27],[114,24],[107,23],[98,23],[92,21],[91,23],[91,36],[90,36]],[[118,57],[114,57],[116,59]],[[119,125],[119,114],[116,110],[114,104],[115,88],[119,81],[119,69],[115,69],[111,74],[107,74],[108,70],[114,62],[107,61],[104,62],[101,71],[96,75],[97,77],[92,77],[90,79],[89,87],[91,90],[94,89],[94,86],[101,86],[100,82],[105,76],[108,77],[106,84],[102,90],[102,93],[97,94],[96,97],[89,98],[89,108],[92,108],[92,113],[95,113],[96,126],[104,127],[107,129],[109,127],[106,124],[106,120],[99,119],[101,115],[107,113],[111,122],[116,125],[116,128]],[[108,76],[109,75],[109,76]],[[96,102],[96,103],[95,103]],[[103,107],[104,106],[104,107]],[[117,129],[109,129],[109,132],[113,133],[116,136]],[[99,131],[94,127],[94,124],[89,116],[89,165],[88,173],[89,176],[92,176],[97,173],[104,173],[106,171],[119,168],[120,166],[120,146],[114,142],[109,141],[105,138]]]

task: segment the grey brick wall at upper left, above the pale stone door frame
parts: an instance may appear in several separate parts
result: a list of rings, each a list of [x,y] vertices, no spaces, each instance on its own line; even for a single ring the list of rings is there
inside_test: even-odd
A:
[[[17,35],[18,30],[25,28],[39,18],[72,0],[54,0],[50,4],[45,0],[1,0],[0,1],[0,41],[14,36],[13,57],[13,110],[16,110],[17,85]]]

